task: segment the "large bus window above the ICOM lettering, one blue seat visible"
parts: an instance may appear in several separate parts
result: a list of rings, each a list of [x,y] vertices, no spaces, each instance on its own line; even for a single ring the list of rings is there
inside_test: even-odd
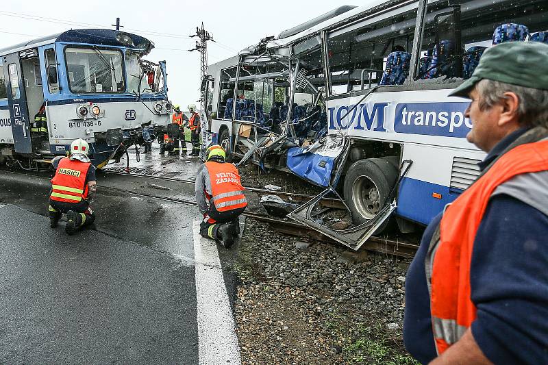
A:
[[[327,60],[331,95],[362,90],[378,84],[403,84],[409,72],[410,52],[416,9],[383,14],[358,25],[329,34]],[[390,53],[407,61],[397,77],[383,80],[387,57]]]

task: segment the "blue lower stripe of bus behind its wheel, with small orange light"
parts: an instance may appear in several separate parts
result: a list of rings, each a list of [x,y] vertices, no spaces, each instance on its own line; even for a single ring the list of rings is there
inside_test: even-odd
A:
[[[462,190],[453,192],[453,189],[449,191],[449,186],[404,177],[399,185],[396,214],[427,225],[447,203],[460,195],[458,191]],[[432,193],[441,194],[441,199],[432,197]]]

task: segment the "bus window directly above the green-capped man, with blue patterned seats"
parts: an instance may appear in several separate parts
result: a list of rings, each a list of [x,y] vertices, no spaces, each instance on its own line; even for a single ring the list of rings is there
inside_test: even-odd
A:
[[[471,77],[486,47],[525,41],[548,29],[548,4],[542,0],[498,0],[482,5],[462,1],[455,9],[429,5],[423,27],[421,59],[415,79],[429,83]],[[447,5],[447,4],[446,4]],[[454,25],[454,26],[453,26]],[[460,25],[460,26],[459,26]],[[452,29],[458,32],[451,32]]]

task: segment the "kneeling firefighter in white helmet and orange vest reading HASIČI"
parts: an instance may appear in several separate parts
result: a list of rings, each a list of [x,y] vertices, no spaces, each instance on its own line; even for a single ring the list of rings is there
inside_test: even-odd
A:
[[[49,226],[57,227],[65,213],[67,234],[73,234],[95,221],[95,214],[89,205],[97,190],[97,181],[95,166],[90,163],[88,151],[88,142],[77,139],[71,143],[70,157],[58,156],[51,161],[55,167],[55,176],[51,179]]]

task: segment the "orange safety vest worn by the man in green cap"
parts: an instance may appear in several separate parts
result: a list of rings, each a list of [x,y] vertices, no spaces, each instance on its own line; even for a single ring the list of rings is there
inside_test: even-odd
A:
[[[491,194],[516,175],[547,170],[548,140],[521,144],[504,153],[445,210],[440,222],[440,240],[429,247],[425,262],[438,354],[457,342],[476,318],[476,307],[471,301],[470,265],[477,228]]]

